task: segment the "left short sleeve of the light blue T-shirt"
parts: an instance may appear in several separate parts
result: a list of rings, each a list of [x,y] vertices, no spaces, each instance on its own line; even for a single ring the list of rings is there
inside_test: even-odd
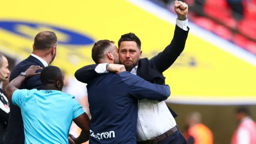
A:
[[[21,104],[24,102],[24,99],[26,98],[26,94],[29,90],[23,89],[23,90],[15,90],[12,94],[12,104],[15,106],[21,106]]]

